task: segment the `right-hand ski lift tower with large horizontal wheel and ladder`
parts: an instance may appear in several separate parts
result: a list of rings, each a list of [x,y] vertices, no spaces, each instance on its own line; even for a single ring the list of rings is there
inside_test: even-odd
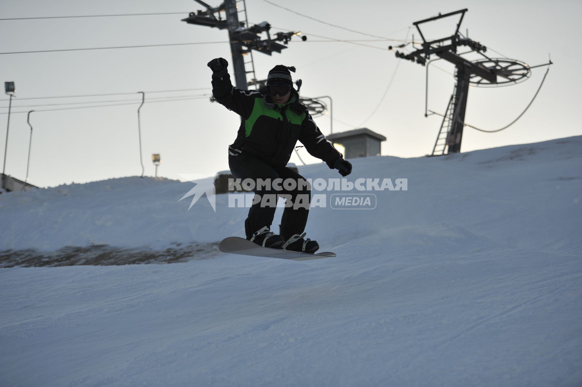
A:
[[[463,22],[463,16],[467,9],[458,10],[456,12],[446,13],[431,17],[430,19],[420,20],[414,22],[414,26],[420,33],[423,39],[422,48],[416,51],[404,54],[396,51],[396,57],[407,59],[412,62],[417,62],[420,65],[427,66],[431,62],[431,55],[435,54],[439,58],[445,59],[456,66],[456,86],[455,93],[451,95],[446,112],[443,115],[441,129],[435,141],[434,148],[432,148],[432,155],[443,155],[447,153],[457,153],[461,151],[461,140],[463,138],[463,127],[465,126],[465,111],[467,108],[467,95],[469,94],[469,85],[472,86],[508,86],[509,84],[520,83],[530,77],[531,69],[534,67],[551,65],[552,61],[545,65],[528,66],[524,62],[516,61],[509,58],[489,58],[485,55],[487,47],[479,42],[471,40],[469,37],[463,37],[459,33],[459,28]],[[460,15],[459,23],[455,33],[449,37],[438,40],[427,41],[420,29],[420,25],[434,20],[442,19],[453,15]],[[403,47],[404,45],[400,46]],[[457,48],[460,46],[467,46],[470,51],[457,54]],[[391,49],[391,47],[390,47]],[[476,61],[469,61],[463,58],[464,54],[469,52],[476,52],[481,55],[483,59]],[[427,68],[428,74],[428,68]],[[428,89],[428,77],[427,77]],[[434,113],[431,111],[431,113]],[[436,113],[435,113],[436,114]],[[425,112],[425,116],[428,116]]]

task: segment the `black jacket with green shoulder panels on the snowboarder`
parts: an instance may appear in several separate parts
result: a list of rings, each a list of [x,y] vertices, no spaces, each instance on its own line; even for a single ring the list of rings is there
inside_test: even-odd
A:
[[[264,89],[233,87],[226,74],[212,77],[212,95],[242,117],[236,140],[229,146],[230,155],[251,155],[278,171],[287,165],[299,140],[309,154],[322,159],[331,169],[336,159],[343,158],[325,139],[294,90],[287,104],[278,105]]]

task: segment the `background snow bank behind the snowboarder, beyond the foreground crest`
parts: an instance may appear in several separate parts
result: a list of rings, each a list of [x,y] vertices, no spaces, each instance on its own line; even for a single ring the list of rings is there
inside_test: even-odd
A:
[[[354,232],[364,236],[450,222],[500,243],[580,251],[582,137],[441,158],[372,157],[353,164],[352,182],[358,177],[407,178],[409,189],[375,191],[374,211],[346,215],[315,208],[307,232],[324,246],[337,246]],[[300,172],[313,179],[340,177],[324,164]],[[178,200],[192,187],[177,180],[126,177],[2,195],[6,222],[0,225],[0,250],[91,244],[162,248],[243,235],[246,208],[228,208],[226,195],[218,195],[216,214],[205,199],[187,211],[190,198]],[[275,219],[281,214],[282,209]],[[520,230],[524,223],[527,229]],[[330,224],[344,226],[331,232]]]

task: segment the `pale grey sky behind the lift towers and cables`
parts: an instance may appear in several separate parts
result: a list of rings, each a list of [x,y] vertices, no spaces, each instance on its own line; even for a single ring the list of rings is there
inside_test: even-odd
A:
[[[278,5],[352,30],[404,40],[413,22],[463,8],[461,30],[508,58],[535,66],[551,66],[540,94],[526,114],[499,133],[466,128],[462,151],[532,143],[582,134],[579,109],[582,86],[576,48],[582,27],[582,2],[558,1],[308,1],[271,0]],[[218,1],[206,1],[212,6]],[[139,100],[171,95],[210,95],[211,71],[206,63],[222,56],[230,59],[226,30],[187,24],[186,12],[203,9],[194,1],[87,1],[2,0],[2,18],[111,15],[119,13],[185,12],[183,15],[91,17],[0,21],[0,52],[45,49],[115,47],[181,42],[224,42],[169,47],[101,49],[92,51],[41,52],[0,55],[2,81],[15,81],[8,140],[6,173],[18,179],[26,175],[31,113],[33,141],[29,182],[40,187],[83,183],[112,177],[141,175],[137,108],[122,105],[101,108],[40,112],[70,106],[46,106],[63,102]],[[303,79],[301,95],[333,98],[333,132],[360,127],[393,83],[377,112],[361,127],[387,137],[382,155],[419,157],[430,154],[439,116],[424,117],[425,68],[396,58],[386,50],[398,42],[364,42],[377,48],[348,42],[321,42],[320,35],[336,40],[375,40],[367,35],[328,26],[277,8],[262,0],[247,0],[251,23],[269,22],[277,31],[302,31],[307,42],[294,38],[282,54],[254,52],[257,76],[265,78],[278,64],[296,66],[294,78]],[[455,30],[456,18],[434,23],[430,38],[445,37]],[[448,24],[447,24],[448,23]],[[428,27],[428,26],[427,26]],[[424,32],[424,29],[423,29]],[[409,38],[420,36],[410,29]],[[438,35],[438,36],[437,36]],[[316,42],[319,41],[319,42]],[[410,47],[410,46],[409,46]],[[409,49],[410,51],[410,49]],[[463,48],[459,52],[464,52]],[[493,58],[501,55],[488,51]],[[431,66],[428,108],[443,113],[452,93],[454,68],[445,61]],[[396,67],[398,66],[398,68]],[[229,69],[232,74],[232,62]],[[471,87],[465,122],[482,129],[499,129],[512,122],[530,103],[546,68],[532,70],[524,83],[502,88]],[[208,88],[208,90],[148,94],[148,91]],[[91,98],[22,100],[63,95],[136,93]],[[8,112],[8,96],[0,97],[1,113]],[[31,106],[30,105],[44,105]],[[18,106],[23,106],[19,108]],[[24,113],[16,113],[24,112]],[[0,162],[4,157],[8,115],[0,114]],[[315,119],[324,134],[330,133],[328,116]],[[347,124],[347,125],[345,125]],[[236,137],[238,116],[208,98],[144,104],[141,136],[145,175],[154,175],[151,154],[161,154],[158,175],[180,179],[178,174],[211,176],[228,169],[227,147]],[[298,145],[300,145],[298,143]],[[321,162],[304,148],[307,164]],[[293,154],[291,162],[301,165]],[[397,171],[393,171],[398,175]]]

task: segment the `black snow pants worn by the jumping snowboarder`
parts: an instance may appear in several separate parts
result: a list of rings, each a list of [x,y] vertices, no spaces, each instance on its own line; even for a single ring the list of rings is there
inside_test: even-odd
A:
[[[264,226],[269,226],[270,229],[275,216],[278,195],[285,197],[287,201],[285,210],[283,210],[279,233],[285,240],[288,240],[294,234],[303,233],[307,224],[307,215],[309,214],[309,205],[311,203],[311,186],[308,183],[299,184],[299,182],[305,182],[303,176],[287,167],[275,171],[266,162],[244,154],[229,154],[228,164],[230,172],[235,179],[254,180],[253,192],[255,193],[254,199],[257,203],[254,203],[249,209],[249,215],[246,221],[244,221],[244,230],[247,239],[251,239],[253,233]],[[268,181],[271,182],[271,186],[265,187],[263,185],[257,187],[258,179],[270,179]],[[275,184],[273,184],[275,179],[282,179],[283,182],[287,181],[288,183],[290,183],[288,179],[293,179],[297,184],[295,184],[293,189],[292,184],[282,183],[280,184],[282,190],[277,190],[275,189]],[[264,199],[267,199],[267,197],[274,198],[270,203],[271,205],[265,205]],[[261,200],[258,201],[258,198],[261,198]],[[289,201],[293,205],[290,205]],[[276,230],[272,231],[276,233]]]

